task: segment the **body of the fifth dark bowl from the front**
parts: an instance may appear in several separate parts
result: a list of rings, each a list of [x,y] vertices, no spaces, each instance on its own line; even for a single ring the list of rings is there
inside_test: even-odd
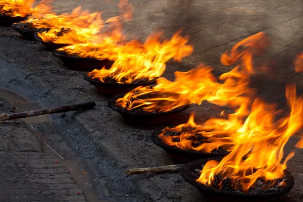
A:
[[[105,67],[110,69],[113,61],[110,60],[97,60],[95,58],[81,58],[79,56],[68,56],[63,51],[54,50],[53,56],[59,58],[68,68],[71,69],[101,69]]]

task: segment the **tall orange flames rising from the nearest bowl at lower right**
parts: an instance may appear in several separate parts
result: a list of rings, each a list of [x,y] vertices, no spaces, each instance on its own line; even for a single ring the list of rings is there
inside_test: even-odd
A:
[[[211,185],[214,176],[220,175],[222,180],[230,179],[230,186],[235,190],[245,192],[250,187],[253,189],[260,178],[274,183],[283,177],[286,163],[294,155],[290,153],[281,163],[283,148],[288,139],[302,128],[303,113],[303,96],[296,96],[295,86],[286,86],[286,98],[290,112],[280,119],[277,116],[281,116],[281,111],[260,98],[255,99],[247,118],[238,114],[230,115],[228,120],[215,119],[214,124],[220,126],[217,132],[232,135],[233,148],[220,163],[214,160],[207,162],[197,181]],[[216,181],[216,185],[221,187],[222,180]]]

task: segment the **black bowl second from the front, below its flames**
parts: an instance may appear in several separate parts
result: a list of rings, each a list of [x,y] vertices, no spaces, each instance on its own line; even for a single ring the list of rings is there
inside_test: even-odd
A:
[[[203,153],[195,150],[184,150],[176,146],[167,145],[159,138],[159,134],[162,132],[162,130],[163,129],[155,130],[153,133],[151,133],[151,141],[163,148],[171,156],[171,158],[178,163],[184,164],[197,159],[224,157],[228,155],[227,151],[222,153]]]

